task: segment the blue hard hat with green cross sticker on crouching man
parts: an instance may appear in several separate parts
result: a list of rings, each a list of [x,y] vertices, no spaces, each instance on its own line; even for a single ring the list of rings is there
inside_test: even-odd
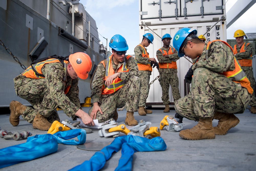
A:
[[[190,33],[193,33],[193,35],[189,36]],[[174,36],[173,40],[173,47],[178,51],[178,56],[183,57],[185,54],[181,53],[180,50],[183,48],[185,43],[188,40],[191,40],[193,38],[196,38],[197,31],[195,29],[190,29],[190,28],[182,28]]]

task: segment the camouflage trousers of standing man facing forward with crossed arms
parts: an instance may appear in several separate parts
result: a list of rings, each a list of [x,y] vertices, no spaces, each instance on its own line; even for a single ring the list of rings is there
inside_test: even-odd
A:
[[[172,95],[174,103],[180,99],[179,94],[179,78],[177,73],[159,73],[159,83],[162,87],[162,101],[163,104],[169,104],[169,85],[172,87]]]

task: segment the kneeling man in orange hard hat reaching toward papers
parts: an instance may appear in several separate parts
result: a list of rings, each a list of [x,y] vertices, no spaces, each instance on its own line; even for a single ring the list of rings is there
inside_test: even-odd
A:
[[[34,61],[32,65],[33,69],[30,66],[14,78],[14,88],[17,96],[27,100],[33,108],[12,101],[9,121],[13,126],[19,124],[22,115],[33,123],[33,128],[48,130],[52,122],[60,121],[56,111],[58,106],[73,120],[79,117],[84,124],[94,125],[90,116],[82,111],[78,97],[78,77],[86,79],[91,70],[92,63],[87,54],[71,54],[69,61],[52,56]]]

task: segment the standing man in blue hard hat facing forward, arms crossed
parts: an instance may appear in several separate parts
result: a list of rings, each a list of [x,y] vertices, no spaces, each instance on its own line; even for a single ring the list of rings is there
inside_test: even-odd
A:
[[[162,37],[164,46],[156,51],[156,57],[159,61],[159,82],[162,87],[162,100],[165,104],[164,112],[169,112],[169,86],[172,87],[174,103],[180,99],[179,78],[177,76],[176,60],[179,59],[178,52],[173,47],[169,47],[172,37],[166,33]]]

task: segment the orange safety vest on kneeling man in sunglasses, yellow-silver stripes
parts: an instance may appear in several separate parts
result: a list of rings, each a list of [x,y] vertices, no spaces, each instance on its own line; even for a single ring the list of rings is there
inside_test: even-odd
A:
[[[105,77],[104,77],[104,83],[108,76],[113,75],[115,73],[113,67],[112,67],[112,57],[111,55],[108,59],[106,59],[106,68],[105,68]],[[126,59],[123,61],[123,64],[118,68],[117,72],[128,72],[129,69],[126,67],[126,61],[130,58],[130,55],[127,55],[125,57]],[[100,63],[105,66],[104,60]],[[106,86],[105,84],[102,85],[101,94],[107,95],[112,94],[123,87],[123,85],[126,83],[126,80],[121,80],[119,77],[115,78],[110,86]]]

